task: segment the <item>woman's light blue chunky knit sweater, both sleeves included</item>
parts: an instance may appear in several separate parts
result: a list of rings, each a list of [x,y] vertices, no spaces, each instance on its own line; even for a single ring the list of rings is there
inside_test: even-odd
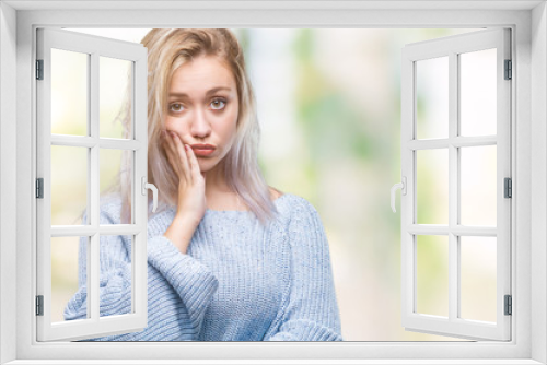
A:
[[[148,223],[148,327],[98,341],[342,341],[325,231],[315,208],[284,193],[261,226],[249,211],[207,210],[186,254],[163,236],[175,208]],[[119,200],[101,224],[119,224]],[[130,313],[129,236],[101,238],[100,313]],[[86,247],[65,319],[86,316]]]

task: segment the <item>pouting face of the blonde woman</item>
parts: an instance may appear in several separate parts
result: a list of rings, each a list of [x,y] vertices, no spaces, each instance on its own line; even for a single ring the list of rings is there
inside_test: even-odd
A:
[[[165,129],[193,148],[201,173],[219,166],[232,148],[237,113],[235,80],[217,58],[200,57],[176,69],[167,95]]]

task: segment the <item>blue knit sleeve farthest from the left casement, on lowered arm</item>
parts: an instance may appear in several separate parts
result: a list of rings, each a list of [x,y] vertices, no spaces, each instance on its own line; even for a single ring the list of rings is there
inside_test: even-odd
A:
[[[327,237],[302,199],[289,223],[291,281],[265,341],[342,341]]]

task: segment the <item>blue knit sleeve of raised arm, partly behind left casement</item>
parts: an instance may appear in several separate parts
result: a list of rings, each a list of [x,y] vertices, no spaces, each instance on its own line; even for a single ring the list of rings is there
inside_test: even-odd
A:
[[[101,224],[113,224],[101,214]],[[86,318],[86,240],[80,244],[77,294],[65,309],[65,319]],[[129,236],[102,236],[100,242],[100,314],[131,311]],[[198,338],[205,311],[218,280],[193,257],[181,254],[164,236],[148,239],[148,327],[140,332],[107,335],[91,341],[191,341]],[[88,340],[90,341],[90,340]]]

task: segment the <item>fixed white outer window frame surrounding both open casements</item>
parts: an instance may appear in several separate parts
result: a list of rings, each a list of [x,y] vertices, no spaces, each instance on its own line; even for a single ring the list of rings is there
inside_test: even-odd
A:
[[[243,5],[247,10],[238,10]],[[93,10],[82,10],[91,8]],[[35,285],[28,285],[34,282],[36,263],[33,219],[36,137],[32,78],[37,26],[511,27],[515,64],[512,83],[512,119],[515,121],[512,125],[512,145],[515,146],[512,154],[512,215],[515,217],[512,222],[512,242],[515,243],[512,246],[515,258],[512,261],[512,341],[37,343],[33,315]],[[226,358],[232,358],[232,364],[256,364],[259,360],[271,364],[272,358],[279,364],[304,364],[310,363],[310,358],[329,358],[322,362],[325,364],[377,364],[379,360],[382,364],[547,363],[545,1],[259,1],[244,4],[223,1],[214,5],[205,1],[3,1],[0,3],[0,363],[50,364],[47,360],[70,360],[67,364],[83,364],[79,360],[93,358],[97,364],[119,364],[124,360],[156,364],[158,360],[142,361],[152,355],[178,360],[173,363],[179,364],[205,364],[197,360],[222,364]],[[386,186],[386,191],[388,189]],[[15,217],[13,212],[16,212]]]

